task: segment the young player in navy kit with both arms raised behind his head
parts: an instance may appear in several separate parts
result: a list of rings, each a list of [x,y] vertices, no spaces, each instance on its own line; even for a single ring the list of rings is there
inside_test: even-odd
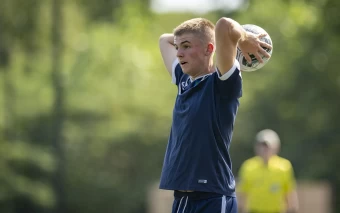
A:
[[[234,20],[216,26],[203,18],[183,22],[159,45],[178,87],[160,188],[174,190],[173,213],[235,213],[229,146],[242,94],[237,46],[250,61],[270,57],[264,35],[246,33]],[[216,54],[216,65],[213,55]]]

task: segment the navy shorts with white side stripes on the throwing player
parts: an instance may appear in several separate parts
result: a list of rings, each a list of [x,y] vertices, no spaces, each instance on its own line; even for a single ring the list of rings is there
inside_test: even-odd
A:
[[[237,213],[235,197],[209,192],[174,192],[172,213]]]

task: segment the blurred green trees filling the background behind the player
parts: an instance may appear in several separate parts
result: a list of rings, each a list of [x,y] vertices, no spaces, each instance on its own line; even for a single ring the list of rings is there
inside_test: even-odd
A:
[[[157,14],[148,1],[63,1],[56,13],[52,3],[0,7],[0,211],[145,212],[176,96],[158,37],[195,15]],[[260,25],[274,42],[271,61],[243,73],[235,172],[272,128],[299,179],[340,191],[339,4],[248,1],[200,15]]]

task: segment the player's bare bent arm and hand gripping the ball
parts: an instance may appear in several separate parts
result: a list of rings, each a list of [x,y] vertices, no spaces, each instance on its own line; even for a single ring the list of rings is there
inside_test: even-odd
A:
[[[241,49],[243,55],[248,62],[251,58],[248,54],[254,54],[255,57],[263,62],[260,54],[270,57],[270,55],[262,48],[272,48],[259,38],[265,34],[255,35],[246,32],[243,27],[230,18],[221,18],[216,23],[216,65],[221,74],[228,72],[235,61],[237,46]]]

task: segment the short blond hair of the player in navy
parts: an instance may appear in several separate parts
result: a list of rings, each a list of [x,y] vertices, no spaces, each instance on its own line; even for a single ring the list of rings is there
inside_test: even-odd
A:
[[[199,36],[205,42],[215,44],[215,25],[208,19],[189,19],[178,25],[173,31],[174,36],[181,36],[185,33],[192,33]]]

